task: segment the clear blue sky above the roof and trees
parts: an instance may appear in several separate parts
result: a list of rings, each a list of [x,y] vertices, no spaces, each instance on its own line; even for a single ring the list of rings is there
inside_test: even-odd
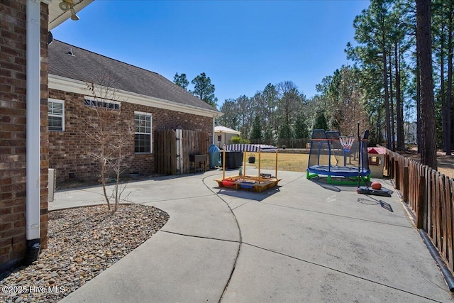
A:
[[[293,81],[306,97],[323,77],[348,64],[353,19],[368,0],[121,1],[95,0],[55,39],[173,81],[205,72],[218,105],[253,97],[268,83]],[[192,85],[189,85],[189,89]]]

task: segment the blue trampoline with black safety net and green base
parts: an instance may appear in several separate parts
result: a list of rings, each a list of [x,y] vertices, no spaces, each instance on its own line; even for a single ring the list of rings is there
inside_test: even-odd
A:
[[[306,178],[326,176],[328,183],[362,184],[370,181],[365,131],[360,142],[353,137],[343,137],[338,131],[312,131],[309,163]]]

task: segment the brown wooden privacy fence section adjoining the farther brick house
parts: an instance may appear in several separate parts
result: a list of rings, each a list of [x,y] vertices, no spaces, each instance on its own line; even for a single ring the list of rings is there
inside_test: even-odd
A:
[[[194,162],[189,155],[206,155],[204,170],[208,163],[211,137],[206,131],[157,130],[154,138],[155,169],[165,175],[182,175],[191,172]]]

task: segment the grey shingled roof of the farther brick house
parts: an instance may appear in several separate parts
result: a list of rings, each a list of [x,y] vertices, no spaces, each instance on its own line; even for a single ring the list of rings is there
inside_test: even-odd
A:
[[[96,84],[101,84],[99,83],[101,75],[109,75],[115,79],[115,82],[111,84],[114,89],[167,100],[184,106],[217,111],[213,106],[156,72],[77,48],[77,46],[59,40],[53,40],[48,46],[48,51],[50,75]],[[68,54],[70,51],[72,55]]]

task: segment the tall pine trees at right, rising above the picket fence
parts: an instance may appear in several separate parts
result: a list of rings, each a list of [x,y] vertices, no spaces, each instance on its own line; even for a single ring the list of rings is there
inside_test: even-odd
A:
[[[450,155],[453,141],[453,9],[450,0],[373,0],[353,22],[358,46],[345,50],[360,69],[377,142],[404,150],[413,114],[421,159],[434,168],[436,148]]]

